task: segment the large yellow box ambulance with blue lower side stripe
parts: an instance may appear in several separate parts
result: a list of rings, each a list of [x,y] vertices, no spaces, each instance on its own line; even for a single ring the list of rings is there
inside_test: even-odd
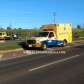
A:
[[[50,46],[65,46],[72,42],[71,24],[48,24],[41,32],[27,40],[27,47],[46,49]]]

